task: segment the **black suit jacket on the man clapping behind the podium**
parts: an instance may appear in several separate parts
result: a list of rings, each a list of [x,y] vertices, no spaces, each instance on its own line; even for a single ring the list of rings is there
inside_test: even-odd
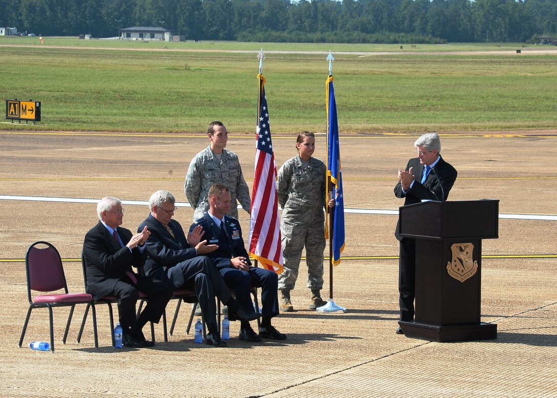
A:
[[[419,203],[422,200],[439,201],[441,200],[441,196],[443,196],[442,192],[444,193],[443,200],[447,200],[449,191],[451,191],[452,186],[455,184],[457,176],[457,171],[454,167],[445,162],[443,158],[439,159],[435,165],[439,178],[435,176],[433,171],[430,171],[423,185],[420,181],[422,180],[423,169],[425,166],[419,162],[419,158],[412,158],[406,165],[406,171],[409,171],[411,167],[413,167],[412,173],[414,174],[414,183],[410,190],[406,192],[406,196],[404,196],[402,192],[400,180],[394,187],[394,195],[398,198],[404,197],[404,206]],[[397,224],[395,236],[398,240],[400,240],[398,231],[399,225]]]

